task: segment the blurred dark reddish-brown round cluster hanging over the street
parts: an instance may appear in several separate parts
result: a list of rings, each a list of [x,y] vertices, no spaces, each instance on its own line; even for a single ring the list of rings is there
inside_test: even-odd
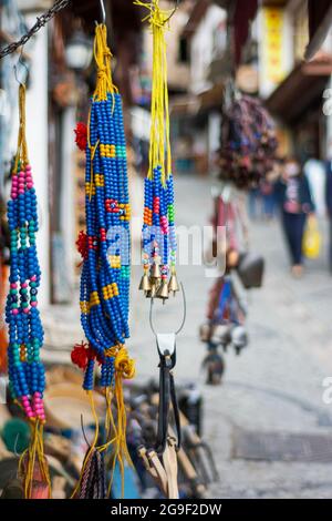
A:
[[[273,122],[261,102],[237,96],[221,122],[220,178],[249,190],[273,167],[277,139]]]

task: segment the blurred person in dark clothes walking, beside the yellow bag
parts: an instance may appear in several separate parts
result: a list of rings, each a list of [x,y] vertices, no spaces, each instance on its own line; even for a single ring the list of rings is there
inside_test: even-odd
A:
[[[314,212],[314,205],[308,178],[297,159],[286,160],[277,190],[292,274],[299,277],[303,270],[302,242],[307,216]]]

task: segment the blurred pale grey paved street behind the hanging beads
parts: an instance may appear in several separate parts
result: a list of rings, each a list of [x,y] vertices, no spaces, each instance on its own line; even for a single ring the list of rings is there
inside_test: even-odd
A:
[[[208,223],[210,186],[206,180],[176,180],[177,224]],[[199,212],[197,212],[199,208]],[[199,222],[197,222],[199,218]],[[325,234],[326,235],[326,234]],[[205,385],[201,361],[205,346],[198,327],[205,319],[212,280],[204,266],[180,266],[187,299],[187,320],[177,343],[176,381],[194,382],[204,397],[204,437],[211,445],[220,481],[212,498],[324,498],[332,490],[332,405],[323,402],[323,379],[332,376],[332,277],[325,247],[321,258],[308,263],[300,280],[289,275],[279,223],[251,226],[252,251],[267,260],[264,286],[248,296],[250,345],[240,357],[226,354],[226,372],[219,387]],[[149,303],[136,292],[141,267],[132,286],[132,338],[137,380],[157,376],[157,351],[148,325]],[[166,331],[178,327],[181,298],[168,302],[163,321]],[[44,314],[45,359],[53,346],[81,340],[79,310],[52,307]],[[324,462],[321,462],[324,461]]]

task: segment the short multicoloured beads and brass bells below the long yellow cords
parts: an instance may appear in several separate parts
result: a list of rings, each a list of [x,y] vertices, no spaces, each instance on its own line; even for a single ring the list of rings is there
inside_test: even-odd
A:
[[[176,232],[174,221],[174,184],[169,174],[163,181],[162,166],[144,183],[144,218],[142,262],[144,274],[139,289],[148,298],[165,303],[169,294],[179,290],[176,277]]]

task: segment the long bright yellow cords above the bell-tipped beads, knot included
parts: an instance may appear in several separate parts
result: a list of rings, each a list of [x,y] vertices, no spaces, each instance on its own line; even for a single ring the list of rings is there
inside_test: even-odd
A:
[[[168,20],[172,11],[162,10],[159,0],[145,3],[134,1],[135,6],[145,7],[149,13],[143,21],[148,20],[153,33],[153,82],[151,101],[151,137],[149,137],[149,168],[148,178],[153,178],[153,171],[162,166],[162,181],[172,171],[172,153],[169,140],[169,108],[167,86],[167,53],[165,31],[169,29]],[[166,157],[165,157],[166,155]]]

